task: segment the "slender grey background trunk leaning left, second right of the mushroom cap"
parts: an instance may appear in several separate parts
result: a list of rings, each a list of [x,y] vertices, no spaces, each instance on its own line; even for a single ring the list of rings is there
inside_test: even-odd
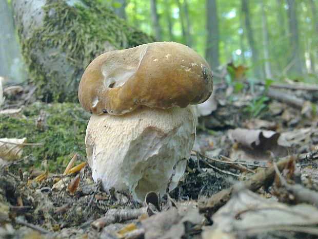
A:
[[[255,64],[255,67],[254,67],[255,76],[257,78],[262,79],[263,78],[263,70],[262,70],[262,67],[260,66],[260,63],[259,63],[259,60],[260,60],[259,51],[257,50],[256,44],[254,41],[254,34],[253,34],[251,22],[250,22],[250,12],[249,12],[249,8],[248,8],[248,1],[247,0],[242,0],[242,11],[243,11],[244,16],[245,16],[245,28],[247,31],[247,40],[248,40],[249,45],[251,47],[252,60],[253,60],[253,63]]]

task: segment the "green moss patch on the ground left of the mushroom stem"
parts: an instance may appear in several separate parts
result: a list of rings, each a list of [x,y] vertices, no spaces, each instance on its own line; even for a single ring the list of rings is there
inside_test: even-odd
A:
[[[23,138],[42,146],[25,146],[23,156],[32,154],[35,167],[48,160],[50,172],[62,172],[74,153],[85,160],[85,130],[89,115],[74,103],[36,103],[24,109],[26,119],[0,115],[0,138]],[[45,130],[35,121],[46,114]]]

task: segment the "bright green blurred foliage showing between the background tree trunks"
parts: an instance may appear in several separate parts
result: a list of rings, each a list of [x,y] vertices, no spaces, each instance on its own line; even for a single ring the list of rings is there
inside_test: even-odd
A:
[[[203,57],[206,51],[206,19],[209,12],[206,12],[205,4],[207,0],[157,0],[157,13],[159,22],[163,30],[162,39],[164,41],[176,41],[186,43],[186,36],[182,34],[181,21],[185,20],[185,2],[189,6],[190,35],[192,39],[191,47],[198,51]],[[126,14],[128,21],[139,29],[149,33],[154,33],[151,21],[150,1],[126,0]],[[265,57],[263,52],[262,34],[262,11],[260,1],[248,1],[250,10],[250,22],[254,34],[255,46],[259,50],[259,62],[252,62],[252,52],[247,40],[247,32],[242,14],[242,0],[216,1],[218,14],[218,27],[220,31],[220,63],[226,64],[233,59],[234,65],[246,65],[249,68],[260,66],[264,70]],[[315,10],[311,6],[312,1],[295,1],[297,23],[299,28],[299,50],[300,57],[305,66],[305,62],[312,60],[315,64],[311,69],[307,65],[304,71],[314,72],[317,76],[318,51],[316,50],[317,39],[315,34]],[[290,73],[288,66],[291,62],[290,56],[294,46],[289,44],[290,29],[288,19],[288,3],[286,1],[266,0],[262,2],[265,6],[267,19],[267,30],[269,38],[269,61],[274,79],[288,77]],[[317,8],[317,4],[314,4]],[[181,14],[182,13],[182,14]],[[181,19],[183,17],[183,19]],[[169,19],[172,24],[172,36],[169,34]],[[247,77],[255,77],[253,71],[247,72]],[[299,76],[298,76],[299,77]],[[310,81],[311,78],[304,78]],[[260,81],[263,79],[257,79]]]

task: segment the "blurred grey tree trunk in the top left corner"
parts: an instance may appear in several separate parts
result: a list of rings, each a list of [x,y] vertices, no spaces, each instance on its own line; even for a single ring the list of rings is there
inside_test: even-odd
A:
[[[7,78],[8,83],[21,83],[26,79],[26,69],[7,0],[0,0],[0,23],[0,76]]]

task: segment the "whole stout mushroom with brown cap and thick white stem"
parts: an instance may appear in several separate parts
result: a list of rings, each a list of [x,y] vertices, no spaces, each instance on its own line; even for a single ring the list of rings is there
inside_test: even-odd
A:
[[[101,54],[78,87],[93,115],[85,144],[93,180],[143,200],[176,187],[195,138],[195,113],[212,93],[208,63],[189,47],[154,42]]]

